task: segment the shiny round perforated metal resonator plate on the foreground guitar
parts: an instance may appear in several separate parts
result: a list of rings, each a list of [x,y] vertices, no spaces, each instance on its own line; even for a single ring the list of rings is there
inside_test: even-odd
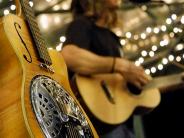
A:
[[[47,137],[94,137],[77,103],[50,77],[36,76],[32,80],[31,102]]]

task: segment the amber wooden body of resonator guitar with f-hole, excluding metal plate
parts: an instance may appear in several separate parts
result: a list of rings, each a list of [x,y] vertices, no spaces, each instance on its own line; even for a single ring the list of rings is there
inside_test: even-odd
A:
[[[1,19],[0,34],[0,137],[45,137],[33,111],[31,84],[35,76],[47,76],[76,100],[68,83],[65,62],[52,50],[49,54],[54,73],[41,68],[27,24],[16,15]],[[98,137],[88,118],[87,121],[94,137]]]

